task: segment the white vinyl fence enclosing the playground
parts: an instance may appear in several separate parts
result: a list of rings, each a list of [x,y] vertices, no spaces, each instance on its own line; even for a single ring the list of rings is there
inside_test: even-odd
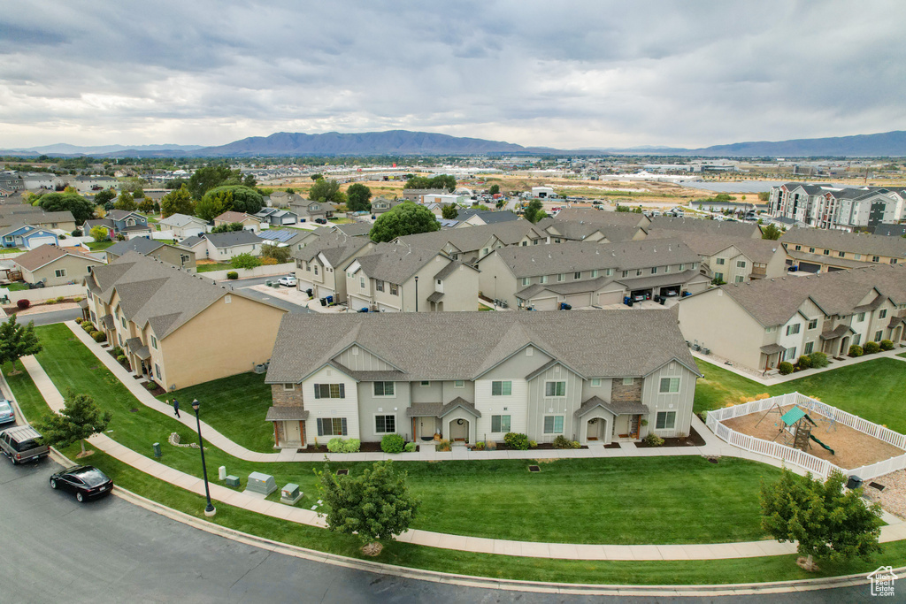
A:
[[[843,473],[843,475],[855,475],[863,480],[869,480],[871,478],[876,478],[877,476],[906,468],[906,453],[904,453],[904,455],[897,455],[896,457],[885,459],[877,464],[863,465],[862,467],[857,467],[852,470],[844,470],[820,457],[815,457],[814,455],[805,453],[805,451],[795,449],[792,446],[781,445],[779,443],[767,441],[763,438],[757,438],[756,436],[741,434],[721,423],[724,420],[732,419],[733,417],[747,416],[759,412],[764,413],[771,407],[774,407],[775,403],[779,404],[780,407],[798,405],[810,414],[835,419],[843,426],[851,427],[853,430],[858,430],[869,436],[874,436],[889,445],[896,446],[900,449],[906,449],[906,436],[901,435],[899,432],[894,432],[886,427],[870,422],[867,419],[854,416],[852,413],[847,413],[846,411],[832,407],[820,400],[806,397],[798,392],[782,394],[778,397],[764,398],[762,400],[753,400],[752,402],[744,403],[742,405],[708,411],[708,428],[710,428],[718,438],[728,442],[732,446],[738,446],[741,449],[760,455],[774,457],[775,459],[782,459],[787,464],[798,465],[823,478],[831,475],[831,473],[836,470],[837,472]]]

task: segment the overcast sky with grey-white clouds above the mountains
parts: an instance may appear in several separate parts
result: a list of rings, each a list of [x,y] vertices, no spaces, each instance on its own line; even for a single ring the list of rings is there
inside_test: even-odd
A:
[[[0,0],[0,148],[426,130],[560,149],[906,129],[906,2]]]

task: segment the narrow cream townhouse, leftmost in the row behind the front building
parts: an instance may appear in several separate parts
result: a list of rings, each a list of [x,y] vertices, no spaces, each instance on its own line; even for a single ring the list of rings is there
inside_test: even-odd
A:
[[[346,302],[345,269],[373,247],[368,237],[354,237],[337,230],[305,244],[301,250],[294,250],[299,290],[315,298],[333,296],[334,302]]]

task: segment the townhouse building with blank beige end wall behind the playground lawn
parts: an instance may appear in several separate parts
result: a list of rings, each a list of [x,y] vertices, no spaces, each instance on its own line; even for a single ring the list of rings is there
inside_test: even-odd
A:
[[[906,265],[729,283],[679,302],[686,339],[749,369],[903,338]]]

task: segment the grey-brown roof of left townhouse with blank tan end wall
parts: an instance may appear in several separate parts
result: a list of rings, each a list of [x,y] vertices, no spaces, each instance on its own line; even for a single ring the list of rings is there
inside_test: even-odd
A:
[[[126,318],[141,327],[150,323],[159,339],[176,331],[226,294],[273,306],[230,286],[218,285],[207,277],[187,273],[172,264],[135,252],[127,252],[111,264],[95,267],[85,281],[89,291],[104,301],[110,301],[114,289],[119,292],[120,309]]]

